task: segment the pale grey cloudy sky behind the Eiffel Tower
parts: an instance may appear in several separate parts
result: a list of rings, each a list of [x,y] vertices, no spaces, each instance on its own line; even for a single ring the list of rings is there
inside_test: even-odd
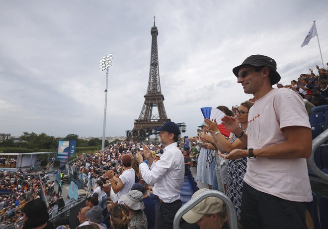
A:
[[[1,0],[0,132],[124,136],[147,91],[153,16],[167,116],[195,135],[201,107],[249,99],[232,73],[252,54],[274,58],[281,82],[328,62],[327,0]],[[326,66],[327,67],[327,66]],[[318,72],[315,70],[315,73]]]

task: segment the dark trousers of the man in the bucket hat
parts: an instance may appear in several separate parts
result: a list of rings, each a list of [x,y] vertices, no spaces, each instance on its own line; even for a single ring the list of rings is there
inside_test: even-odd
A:
[[[244,182],[241,213],[244,229],[307,229],[305,212],[304,202],[284,200]]]

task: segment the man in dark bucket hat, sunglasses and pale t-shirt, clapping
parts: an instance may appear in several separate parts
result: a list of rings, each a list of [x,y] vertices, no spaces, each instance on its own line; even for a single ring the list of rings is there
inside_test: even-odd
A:
[[[247,149],[232,150],[225,159],[248,156],[242,194],[245,229],[301,229],[306,204],[312,201],[306,158],[312,151],[309,117],[301,97],[290,89],[273,89],[280,80],[276,62],[252,55],[233,69],[255,104],[248,112],[247,134],[235,117],[222,118]]]

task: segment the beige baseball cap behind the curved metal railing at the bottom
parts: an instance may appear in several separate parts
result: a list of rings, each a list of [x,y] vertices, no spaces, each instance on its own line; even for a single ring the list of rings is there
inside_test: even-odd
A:
[[[192,198],[195,198],[200,193],[209,189],[200,189],[195,192]],[[199,204],[189,210],[186,214],[182,216],[189,224],[194,224],[200,220],[206,214],[215,214],[223,211],[223,201],[218,197],[206,197]]]

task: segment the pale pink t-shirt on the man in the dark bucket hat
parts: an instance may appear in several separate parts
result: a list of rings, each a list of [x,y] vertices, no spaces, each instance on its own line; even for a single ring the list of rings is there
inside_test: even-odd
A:
[[[273,89],[249,110],[247,147],[259,149],[286,141],[281,132],[286,126],[311,128],[299,95],[290,89]],[[244,181],[256,190],[285,200],[312,201],[305,158],[247,158]]]

